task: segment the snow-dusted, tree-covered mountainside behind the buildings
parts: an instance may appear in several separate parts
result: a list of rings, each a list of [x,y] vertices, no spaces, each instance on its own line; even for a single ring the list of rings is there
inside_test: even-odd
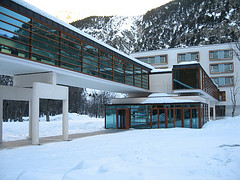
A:
[[[71,24],[131,53],[237,41],[239,12],[239,0],[175,0],[142,16],[94,16]]]

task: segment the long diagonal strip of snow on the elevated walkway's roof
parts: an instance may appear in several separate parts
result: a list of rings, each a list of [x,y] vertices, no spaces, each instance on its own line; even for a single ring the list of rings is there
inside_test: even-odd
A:
[[[91,39],[92,41],[95,41],[95,42],[101,44],[102,46],[105,46],[105,47],[108,48],[108,49],[111,49],[112,51],[114,51],[114,52],[116,52],[116,53],[118,53],[118,54],[121,54],[122,56],[124,56],[124,57],[126,57],[126,58],[128,58],[128,59],[131,59],[132,61],[135,61],[135,62],[138,63],[138,64],[141,64],[142,66],[145,66],[145,67],[147,67],[147,68],[149,68],[149,69],[154,69],[154,67],[151,66],[150,64],[147,64],[147,63],[144,63],[144,62],[142,62],[142,61],[140,61],[140,60],[137,60],[136,58],[134,58],[134,57],[132,57],[132,56],[129,56],[129,55],[127,55],[127,54],[125,54],[125,53],[123,53],[123,52],[121,52],[121,51],[113,48],[112,46],[110,46],[110,45],[108,45],[108,44],[106,44],[106,43],[104,43],[104,42],[102,42],[102,41],[99,41],[98,39],[90,36],[89,34],[84,33],[84,32],[81,31],[80,29],[78,29],[78,28],[76,28],[76,27],[74,27],[74,26],[72,26],[72,25],[70,25],[70,24],[68,24],[68,23],[66,23],[66,22],[64,22],[64,21],[62,21],[62,20],[60,20],[60,19],[58,19],[58,18],[56,18],[56,17],[54,17],[54,16],[52,16],[52,15],[44,12],[44,11],[42,11],[42,10],[40,10],[39,8],[37,8],[37,7],[35,7],[35,6],[27,3],[27,2],[24,1],[24,0],[13,0],[13,1],[16,2],[17,4],[20,4],[20,5],[28,8],[28,9],[31,9],[32,11],[34,11],[34,12],[36,12],[36,13],[38,13],[38,14],[40,14],[40,15],[48,18],[48,19],[51,19],[51,20],[53,20],[53,21],[55,21],[55,22],[57,22],[57,23],[65,26],[65,27],[71,29],[72,31],[75,31],[75,32],[81,34],[82,36],[85,36],[85,37],[88,38],[88,39]]]

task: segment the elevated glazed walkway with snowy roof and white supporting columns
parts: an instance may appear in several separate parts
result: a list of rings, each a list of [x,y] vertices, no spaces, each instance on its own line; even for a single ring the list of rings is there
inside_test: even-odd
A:
[[[63,101],[68,139],[68,88],[145,94],[153,66],[100,42],[21,0],[0,0],[0,142],[3,100],[29,101],[29,138],[39,144],[39,99]]]

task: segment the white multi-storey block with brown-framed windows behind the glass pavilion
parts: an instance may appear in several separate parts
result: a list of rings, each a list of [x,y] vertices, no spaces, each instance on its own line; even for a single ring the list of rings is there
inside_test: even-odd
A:
[[[235,43],[226,43],[136,52],[131,54],[131,56],[155,67],[155,70],[151,73],[152,75],[150,75],[150,81],[154,80],[154,74],[161,73],[163,75],[172,72],[175,65],[198,62],[207,75],[218,85],[220,99],[216,103],[215,108],[216,116],[222,117],[232,116],[232,91],[238,91],[235,115],[240,114],[240,62],[234,54],[233,50],[235,48]],[[183,78],[188,81],[192,77],[191,74],[186,73],[186,76]],[[166,82],[157,80],[155,82],[155,84],[150,83],[152,84],[151,90],[160,85],[160,82],[166,84]],[[174,88],[169,87],[168,89],[162,89],[162,91],[173,93]],[[213,109],[211,108],[211,115],[212,111]]]

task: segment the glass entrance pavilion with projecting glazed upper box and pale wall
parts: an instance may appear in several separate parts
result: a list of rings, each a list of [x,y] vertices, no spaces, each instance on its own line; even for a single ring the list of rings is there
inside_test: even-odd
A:
[[[215,119],[219,89],[198,62],[153,72],[150,95],[106,105],[106,128],[201,128],[210,119],[210,107]]]

